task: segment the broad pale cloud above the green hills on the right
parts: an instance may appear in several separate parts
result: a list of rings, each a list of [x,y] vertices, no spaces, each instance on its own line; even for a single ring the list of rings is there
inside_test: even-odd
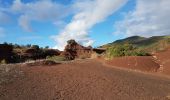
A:
[[[170,0],[137,0],[136,8],[115,24],[114,34],[170,35]]]

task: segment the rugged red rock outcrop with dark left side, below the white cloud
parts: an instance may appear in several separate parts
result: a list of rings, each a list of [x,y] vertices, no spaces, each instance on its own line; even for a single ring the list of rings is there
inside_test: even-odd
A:
[[[89,58],[92,54],[92,47],[84,47],[75,40],[67,41],[67,45],[62,53],[68,60],[75,58]]]

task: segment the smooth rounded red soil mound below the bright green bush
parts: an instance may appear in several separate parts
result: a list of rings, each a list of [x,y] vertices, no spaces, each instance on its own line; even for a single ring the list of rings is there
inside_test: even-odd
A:
[[[151,56],[116,57],[112,60],[106,61],[106,63],[116,67],[148,72],[156,72],[160,67]]]

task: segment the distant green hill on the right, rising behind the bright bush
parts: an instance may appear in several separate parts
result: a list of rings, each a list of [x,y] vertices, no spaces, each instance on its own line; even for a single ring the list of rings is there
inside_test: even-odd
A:
[[[170,47],[170,36],[153,36],[153,37],[141,37],[132,36],[125,39],[117,40],[112,43],[101,46],[102,48],[109,48],[116,45],[132,44],[133,46],[146,50],[148,52],[164,50]]]

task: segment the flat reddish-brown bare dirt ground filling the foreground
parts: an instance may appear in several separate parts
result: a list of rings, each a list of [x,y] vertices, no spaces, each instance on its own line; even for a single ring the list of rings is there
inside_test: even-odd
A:
[[[167,100],[170,79],[105,67],[96,60],[22,67],[0,100]]]

